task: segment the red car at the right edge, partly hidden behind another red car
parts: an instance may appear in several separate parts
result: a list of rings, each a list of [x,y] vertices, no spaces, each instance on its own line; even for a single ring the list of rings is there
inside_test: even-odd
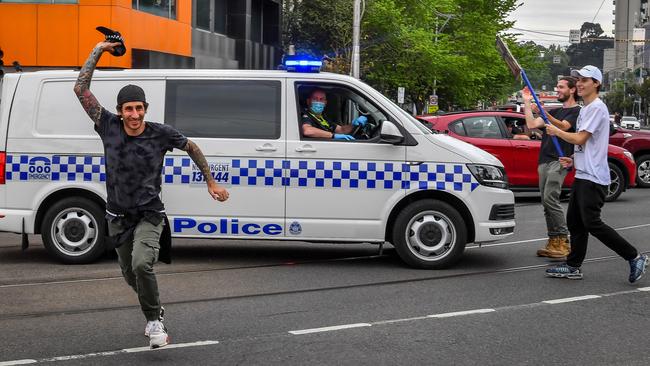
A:
[[[650,187],[650,131],[630,130],[612,125],[609,143],[628,150],[636,161],[636,183],[639,187]]]

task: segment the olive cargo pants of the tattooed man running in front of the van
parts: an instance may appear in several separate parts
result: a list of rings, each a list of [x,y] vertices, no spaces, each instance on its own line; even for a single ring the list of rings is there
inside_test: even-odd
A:
[[[153,225],[142,220],[135,227],[133,239],[116,248],[120,268],[126,283],[138,294],[140,308],[148,321],[157,320],[160,314],[158,282],[153,265],[158,261],[160,234],[163,222]],[[109,235],[114,236],[124,228],[114,222],[108,223]]]

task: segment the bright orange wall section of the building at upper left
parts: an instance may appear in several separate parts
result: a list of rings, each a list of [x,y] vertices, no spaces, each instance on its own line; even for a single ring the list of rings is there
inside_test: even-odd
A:
[[[176,20],[133,10],[131,0],[79,0],[79,4],[0,3],[0,48],[5,66],[81,66],[103,40],[99,25],[122,33],[127,53],[102,56],[99,66],[131,67],[131,48],[192,55],[192,1],[177,0]]]

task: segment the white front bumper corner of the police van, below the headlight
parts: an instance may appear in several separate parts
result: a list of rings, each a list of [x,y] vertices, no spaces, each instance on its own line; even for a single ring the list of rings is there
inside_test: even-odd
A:
[[[475,218],[475,243],[485,243],[507,238],[514,233],[514,205],[515,195],[510,190],[479,186],[472,195],[477,201],[477,208],[474,212]],[[497,207],[511,208],[512,215],[504,219],[504,216],[495,215]]]

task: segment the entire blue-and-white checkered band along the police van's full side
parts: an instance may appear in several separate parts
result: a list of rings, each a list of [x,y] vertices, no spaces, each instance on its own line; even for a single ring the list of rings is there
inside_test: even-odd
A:
[[[100,156],[27,155],[7,156],[7,180],[31,180],[29,169],[35,164],[49,165],[49,180],[52,181],[106,180],[104,158]],[[444,163],[411,165],[369,161],[232,159],[228,173],[228,181],[220,183],[232,186],[283,185],[289,188],[435,189],[470,192],[479,185],[465,165]],[[163,183],[190,184],[192,174],[190,158],[165,158]]]

